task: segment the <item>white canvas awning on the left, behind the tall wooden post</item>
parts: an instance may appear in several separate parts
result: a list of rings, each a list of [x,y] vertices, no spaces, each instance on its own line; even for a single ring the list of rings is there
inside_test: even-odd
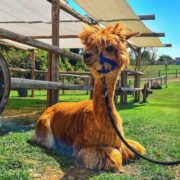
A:
[[[84,25],[72,15],[60,11],[60,35],[77,35]],[[52,35],[51,26],[51,3],[47,0],[0,0],[0,28],[24,36],[42,37]],[[50,38],[39,40],[51,44]],[[4,39],[0,39],[0,43],[16,45],[16,42]],[[31,49],[20,43],[17,46]],[[82,44],[78,38],[62,38],[60,48],[82,48]]]

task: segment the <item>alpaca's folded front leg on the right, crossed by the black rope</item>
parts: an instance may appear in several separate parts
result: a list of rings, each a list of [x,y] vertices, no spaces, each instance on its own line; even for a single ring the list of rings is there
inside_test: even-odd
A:
[[[141,154],[146,153],[146,149],[139,143],[133,140],[126,140],[129,145],[131,145],[136,151],[138,151]],[[122,154],[122,159],[123,161],[128,161],[130,159],[133,159],[136,157],[136,155],[126,147],[126,145],[122,144],[120,148],[121,154]]]

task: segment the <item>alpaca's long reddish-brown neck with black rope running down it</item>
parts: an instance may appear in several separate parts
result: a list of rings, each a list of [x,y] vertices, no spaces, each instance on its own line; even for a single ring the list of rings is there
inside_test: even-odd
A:
[[[115,117],[115,120],[116,120],[116,108],[114,104],[114,93],[115,93],[117,77],[118,77],[118,73],[114,74],[112,78],[106,78],[106,87],[109,98],[109,105],[112,114]],[[94,93],[93,93],[94,112],[95,112],[96,120],[99,121],[100,124],[109,126],[110,122],[104,102],[104,96],[102,94],[102,89],[103,89],[102,79],[96,79]]]

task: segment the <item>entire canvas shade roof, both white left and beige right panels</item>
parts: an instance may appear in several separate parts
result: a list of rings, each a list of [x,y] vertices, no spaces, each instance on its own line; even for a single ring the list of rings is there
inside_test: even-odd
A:
[[[75,0],[90,16],[101,24],[123,21],[129,31],[152,32],[134,13],[126,0]],[[61,3],[63,3],[61,1]],[[107,13],[108,12],[108,13]],[[60,36],[77,35],[85,24],[64,10],[60,11]],[[0,0],[0,28],[31,37],[51,36],[51,3],[47,0]],[[51,44],[51,39],[39,39]],[[33,47],[10,40],[0,43],[24,49]],[[138,47],[161,47],[157,37],[136,37],[132,43]],[[78,38],[60,38],[60,48],[83,47]]]

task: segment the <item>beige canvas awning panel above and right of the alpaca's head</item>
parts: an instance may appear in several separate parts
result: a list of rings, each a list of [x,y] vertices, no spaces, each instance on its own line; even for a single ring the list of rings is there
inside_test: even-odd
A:
[[[95,20],[103,25],[123,22],[129,31],[152,33],[134,13],[127,0],[75,0]],[[138,47],[164,46],[157,37],[136,37],[131,42]]]

